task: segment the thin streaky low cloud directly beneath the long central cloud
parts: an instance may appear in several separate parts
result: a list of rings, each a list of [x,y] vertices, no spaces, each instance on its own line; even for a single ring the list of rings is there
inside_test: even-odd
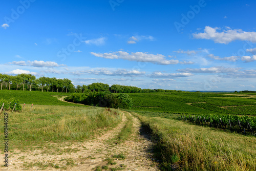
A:
[[[76,71],[76,72],[71,72],[70,74],[73,74],[73,75],[93,74],[93,75],[106,75],[106,76],[136,77],[136,76],[144,75],[145,72],[141,72],[138,70],[127,71],[125,69],[118,69],[118,70],[113,71],[113,70],[102,68],[102,69]]]

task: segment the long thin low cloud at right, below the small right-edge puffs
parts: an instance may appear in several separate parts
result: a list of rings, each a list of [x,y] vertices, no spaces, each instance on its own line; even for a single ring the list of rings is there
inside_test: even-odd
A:
[[[228,68],[228,67],[210,67],[210,68],[187,68],[179,69],[179,72],[185,73],[235,73],[238,72],[241,68]]]

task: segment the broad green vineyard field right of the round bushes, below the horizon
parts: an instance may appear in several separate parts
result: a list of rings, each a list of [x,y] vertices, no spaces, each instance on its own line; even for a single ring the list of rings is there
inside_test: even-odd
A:
[[[182,92],[130,93],[129,95],[134,102],[132,108],[134,111],[256,115],[256,93]]]

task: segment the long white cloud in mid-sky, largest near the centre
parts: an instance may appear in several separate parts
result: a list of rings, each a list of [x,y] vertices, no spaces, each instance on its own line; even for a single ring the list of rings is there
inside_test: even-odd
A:
[[[166,59],[164,55],[161,54],[148,54],[143,52],[132,52],[131,54],[124,52],[124,51],[118,51],[113,53],[95,53],[91,52],[92,55],[107,59],[125,59],[130,61],[139,61],[139,62],[151,62],[156,63],[159,65],[171,65],[171,64],[178,64],[179,60],[174,59]]]

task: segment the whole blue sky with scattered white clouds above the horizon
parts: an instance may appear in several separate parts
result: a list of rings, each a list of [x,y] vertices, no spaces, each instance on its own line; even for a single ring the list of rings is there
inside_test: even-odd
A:
[[[255,1],[1,3],[1,73],[74,85],[256,89]]]

